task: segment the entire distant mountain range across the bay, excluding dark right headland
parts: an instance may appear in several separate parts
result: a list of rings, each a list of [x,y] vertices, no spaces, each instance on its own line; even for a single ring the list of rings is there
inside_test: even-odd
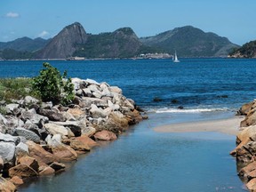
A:
[[[134,58],[140,54],[177,51],[180,57],[227,57],[239,48],[228,38],[204,33],[199,28],[186,26],[165,31],[156,36],[139,38],[132,28],[119,28],[114,32],[87,34],[75,22],[63,28],[52,39],[23,37],[12,42],[0,43],[0,58],[17,59],[88,59]]]

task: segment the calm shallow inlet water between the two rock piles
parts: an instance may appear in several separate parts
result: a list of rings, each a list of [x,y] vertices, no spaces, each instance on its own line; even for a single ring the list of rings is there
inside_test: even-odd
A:
[[[20,191],[244,191],[236,175],[235,136],[218,132],[158,133],[161,115],[82,156],[67,172]],[[158,121],[159,122],[159,121]]]

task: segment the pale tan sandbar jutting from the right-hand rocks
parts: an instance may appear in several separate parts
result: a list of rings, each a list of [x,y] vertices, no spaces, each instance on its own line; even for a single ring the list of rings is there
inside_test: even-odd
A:
[[[180,124],[166,124],[154,129],[156,132],[223,132],[236,135],[243,116],[234,116],[228,119],[190,122]]]

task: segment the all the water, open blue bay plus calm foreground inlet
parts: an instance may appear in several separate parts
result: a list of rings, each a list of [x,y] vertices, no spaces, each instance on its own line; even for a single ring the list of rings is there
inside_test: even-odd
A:
[[[92,149],[67,172],[20,191],[244,191],[229,156],[236,136],[159,133],[162,124],[235,116],[255,98],[256,60],[49,61],[68,76],[119,86],[149,119],[114,142]],[[43,61],[0,61],[0,77],[37,76]],[[156,101],[157,99],[157,101]],[[182,107],[183,109],[179,109]]]

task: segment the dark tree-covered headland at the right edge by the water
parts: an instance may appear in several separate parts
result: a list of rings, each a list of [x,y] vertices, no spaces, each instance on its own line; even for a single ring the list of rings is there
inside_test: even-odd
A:
[[[256,58],[256,40],[244,44],[242,47],[234,49],[228,57],[232,58]]]

